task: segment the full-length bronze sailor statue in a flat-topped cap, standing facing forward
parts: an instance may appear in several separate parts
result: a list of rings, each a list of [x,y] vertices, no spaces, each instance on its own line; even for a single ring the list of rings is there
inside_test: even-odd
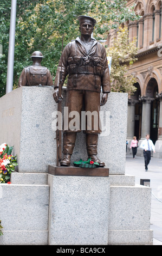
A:
[[[57,68],[54,82],[54,100],[59,101],[59,74],[62,70],[62,84],[68,75],[66,107],[68,112],[93,111],[98,113],[100,106],[105,105],[108,93],[111,91],[109,68],[106,57],[106,50],[99,42],[91,37],[96,20],[89,16],[79,16],[80,38],[69,42],[62,52],[59,66]],[[102,99],[100,92],[102,87]],[[69,121],[72,118],[69,118]],[[92,120],[93,123],[93,120]],[[98,162],[100,167],[105,163],[98,159],[98,135],[101,133],[99,122],[98,129],[89,130],[86,127],[86,148],[88,158]],[[76,132],[81,129],[70,130],[69,127],[63,131],[63,156],[61,166],[70,166],[70,158],[73,154]]]

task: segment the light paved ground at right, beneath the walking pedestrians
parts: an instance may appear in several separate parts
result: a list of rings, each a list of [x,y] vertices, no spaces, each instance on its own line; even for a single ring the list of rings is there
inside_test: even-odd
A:
[[[135,183],[141,179],[150,180],[152,188],[151,225],[153,230],[153,245],[162,245],[162,159],[151,157],[148,171],[145,172],[144,157],[126,155],[126,174],[135,176]]]

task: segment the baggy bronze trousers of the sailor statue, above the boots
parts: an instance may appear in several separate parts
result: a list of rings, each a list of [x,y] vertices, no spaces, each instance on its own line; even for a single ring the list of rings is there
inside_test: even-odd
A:
[[[66,107],[68,117],[64,120],[63,131],[101,133],[100,93],[90,90],[67,90]]]

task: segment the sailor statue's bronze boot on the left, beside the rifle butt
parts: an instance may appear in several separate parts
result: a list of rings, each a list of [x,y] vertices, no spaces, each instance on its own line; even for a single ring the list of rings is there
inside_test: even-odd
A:
[[[61,166],[70,166],[70,159],[75,146],[76,132],[63,133],[63,156]]]

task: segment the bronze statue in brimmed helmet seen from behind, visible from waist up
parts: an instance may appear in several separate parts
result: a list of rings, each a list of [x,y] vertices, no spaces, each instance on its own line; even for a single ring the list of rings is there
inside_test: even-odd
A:
[[[23,69],[18,80],[18,87],[21,86],[53,86],[53,79],[50,71],[41,65],[43,55],[40,51],[33,52],[30,56],[33,60],[31,66]]]

